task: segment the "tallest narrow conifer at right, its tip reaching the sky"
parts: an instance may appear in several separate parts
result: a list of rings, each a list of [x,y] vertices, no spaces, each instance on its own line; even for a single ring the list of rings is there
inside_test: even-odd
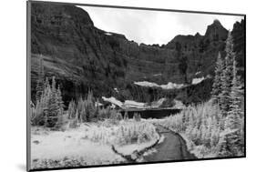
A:
[[[235,53],[233,52],[233,38],[229,32],[226,41],[226,57],[225,57],[225,69],[223,70],[223,75],[221,79],[221,89],[220,94],[220,109],[222,116],[227,116],[230,110],[230,92],[232,86],[232,76],[233,76],[233,60],[235,59]]]

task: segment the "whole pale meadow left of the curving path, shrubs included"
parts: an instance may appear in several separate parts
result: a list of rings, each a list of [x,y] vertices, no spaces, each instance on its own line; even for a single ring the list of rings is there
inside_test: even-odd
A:
[[[145,121],[120,121],[111,125],[108,121],[81,124],[77,128],[67,128],[66,131],[50,131],[43,127],[32,127],[31,130],[31,163],[38,167],[72,167],[124,163],[126,159],[112,150],[112,145],[118,151],[131,154],[151,146],[158,138],[153,132],[153,126]],[[152,134],[152,139],[141,143],[126,143],[120,145],[120,128],[130,129],[130,132]],[[145,135],[147,135],[145,133]],[[122,133],[121,133],[122,134]],[[143,135],[144,136],[144,135]],[[149,136],[148,136],[149,137]],[[65,162],[65,161],[68,162]],[[70,162],[69,162],[70,161]],[[47,163],[51,165],[47,166]],[[58,163],[56,163],[58,162]]]

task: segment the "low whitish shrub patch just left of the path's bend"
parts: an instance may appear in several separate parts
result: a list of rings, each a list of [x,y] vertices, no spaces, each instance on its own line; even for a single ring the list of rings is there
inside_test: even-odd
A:
[[[113,125],[106,120],[98,126],[87,127],[85,138],[100,144],[124,146],[156,140],[159,135],[155,126],[148,122],[122,120],[118,125]]]

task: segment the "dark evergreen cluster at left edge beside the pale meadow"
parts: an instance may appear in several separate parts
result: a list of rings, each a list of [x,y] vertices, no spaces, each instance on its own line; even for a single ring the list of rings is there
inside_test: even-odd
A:
[[[36,107],[32,107],[31,123],[33,126],[46,126],[60,129],[65,123],[64,104],[60,87],[56,86],[55,76],[51,85],[44,74],[43,58],[39,59],[36,84]]]

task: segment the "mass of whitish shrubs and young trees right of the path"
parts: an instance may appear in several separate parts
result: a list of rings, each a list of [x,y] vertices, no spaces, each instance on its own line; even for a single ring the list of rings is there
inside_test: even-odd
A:
[[[241,119],[238,120],[241,122]],[[241,155],[242,144],[230,145],[233,140],[226,138],[230,135],[230,132],[227,132],[230,128],[224,125],[224,121],[227,121],[227,116],[220,115],[219,106],[207,102],[189,106],[176,116],[159,120],[159,124],[184,137],[189,150],[197,157],[221,157],[222,151],[221,155]],[[241,131],[242,128],[237,129]],[[233,151],[225,152],[227,149]]]

